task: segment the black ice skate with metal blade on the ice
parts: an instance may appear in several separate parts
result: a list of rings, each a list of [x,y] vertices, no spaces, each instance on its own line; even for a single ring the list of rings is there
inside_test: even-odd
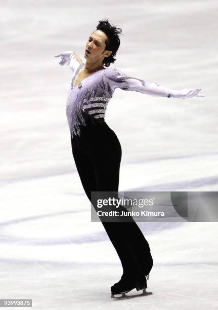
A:
[[[138,296],[151,295],[152,292],[146,292],[146,288],[147,288],[147,280],[145,277],[139,280],[133,280],[133,279],[122,276],[120,281],[118,283],[115,283],[111,287],[111,298],[126,299],[126,298],[134,298]],[[125,295],[125,293],[128,293],[133,289],[136,289],[137,291],[143,290],[143,292],[141,294]],[[115,295],[121,295],[121,296],[115,296]]]

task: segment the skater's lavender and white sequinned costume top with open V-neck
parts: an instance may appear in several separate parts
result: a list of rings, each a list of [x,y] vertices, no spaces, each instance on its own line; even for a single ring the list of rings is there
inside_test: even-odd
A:
[[[80,136],[79,125],[86,126],[82,112],[88,113],[96,120],[104,120],[108,102],[116,88],[126,91],[137,91],[143,94],[158,97],[177,97],[177,91],[167,89],[157,83],[127,76],[116,68],[108,67],[92,73],[81,81],[82,86],[75,86],[78,73],[84,66],[81,58],[75,52],[70,58],[70,68],[74,72],[66,103],[67,120],[73,135]]]

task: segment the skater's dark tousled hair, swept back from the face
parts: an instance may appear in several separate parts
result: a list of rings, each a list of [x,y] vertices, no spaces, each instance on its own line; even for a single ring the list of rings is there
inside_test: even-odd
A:
[[[112,51],[112,53],[110,56],[104,58],[103,65],[109,67],[110,63],[114,63],[116,60],[113,56],[116,56],[116,52],[120,46],[118,34],[122,34],[122,29],[117,28],[115,25],[111,25],[108,22],[108,19],[105,19],[99,21],[96,30],[101,30],[107,35],[107,39],[105,40],[105,50]]]

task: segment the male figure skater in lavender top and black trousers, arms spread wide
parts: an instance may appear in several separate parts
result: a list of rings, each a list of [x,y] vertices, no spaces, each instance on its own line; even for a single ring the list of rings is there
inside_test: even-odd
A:
[[[120,46],[121,31],[108,19],[101,20],[85,44],[85,63],[74,51],[55,56],[62,58],[60,65],[67,63],[73,71],[66,114],[73,158],[90,201],[92,191],[118,192],[121,145],[104,120],[116,88],[167,98],[204,97],[199,95],[201,89],[172,90],[109,67],[116,60],[114,56]],[[133,219],[102,224],[123,268],[121,279],[111,287],[111,296],[134,288],[145,290],[153,259],[139,226]]]

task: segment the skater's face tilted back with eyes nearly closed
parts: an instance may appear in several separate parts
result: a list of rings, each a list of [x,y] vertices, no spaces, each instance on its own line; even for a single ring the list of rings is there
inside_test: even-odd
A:
[[[89,62],[91,61],[103,61],[105,57],[111,55],[111,51],[105,51],[105,40],[107,39],[107,35],[101,31],[96,30],[92,34],[90,34],[88,41],[85,45],[85,50],[88,49],[90,53],[84,54],[84,57]]]

